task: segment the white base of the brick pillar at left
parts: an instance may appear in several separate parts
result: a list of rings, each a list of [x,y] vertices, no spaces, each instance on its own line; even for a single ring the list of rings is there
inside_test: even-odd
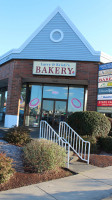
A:
[[[19,116],[18,115],[5,115],[5,124],[6,128],[11,128],[13,126],[19,125]]]

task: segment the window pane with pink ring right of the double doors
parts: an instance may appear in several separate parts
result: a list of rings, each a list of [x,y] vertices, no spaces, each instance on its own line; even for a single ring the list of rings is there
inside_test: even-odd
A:
[[[84,88],[69,88],[68,98],[68,114],[76,111],[83,111],[84,104]]]

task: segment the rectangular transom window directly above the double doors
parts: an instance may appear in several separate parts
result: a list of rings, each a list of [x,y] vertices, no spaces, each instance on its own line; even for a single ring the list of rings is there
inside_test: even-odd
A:
[[[44,86],[43,98],[67,99],[68,87]]]

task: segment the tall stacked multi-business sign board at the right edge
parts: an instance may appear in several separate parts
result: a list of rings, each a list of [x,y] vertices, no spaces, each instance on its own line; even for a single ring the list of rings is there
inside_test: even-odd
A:
[[[99,65],[97,111],[112,113],[112,63]]]

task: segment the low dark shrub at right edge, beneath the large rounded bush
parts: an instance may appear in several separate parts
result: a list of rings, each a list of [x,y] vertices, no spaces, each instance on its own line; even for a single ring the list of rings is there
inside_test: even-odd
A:
[[[99,137],[98,138],[98,144],[101,147],[102,151],[105,151],[107,153],[112,153],[112,137]]]

